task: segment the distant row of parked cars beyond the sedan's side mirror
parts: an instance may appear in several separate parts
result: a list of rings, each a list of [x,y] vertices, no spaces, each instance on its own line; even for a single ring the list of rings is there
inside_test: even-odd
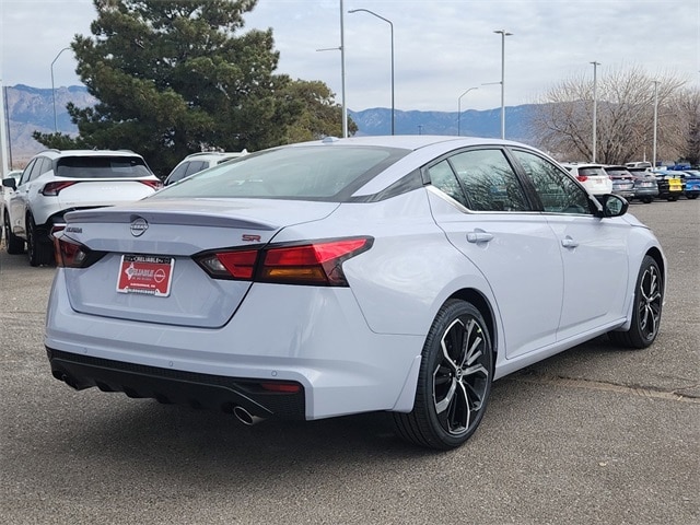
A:
[[[639,163],[632,163],[639,164]],[[652,170],[649,165],[605,165],[564,163],[571,174],[593,195],[617,194],[627,200],[650,203],[654,198],[669,201],[680,196],[700,196],[700,171]]]

